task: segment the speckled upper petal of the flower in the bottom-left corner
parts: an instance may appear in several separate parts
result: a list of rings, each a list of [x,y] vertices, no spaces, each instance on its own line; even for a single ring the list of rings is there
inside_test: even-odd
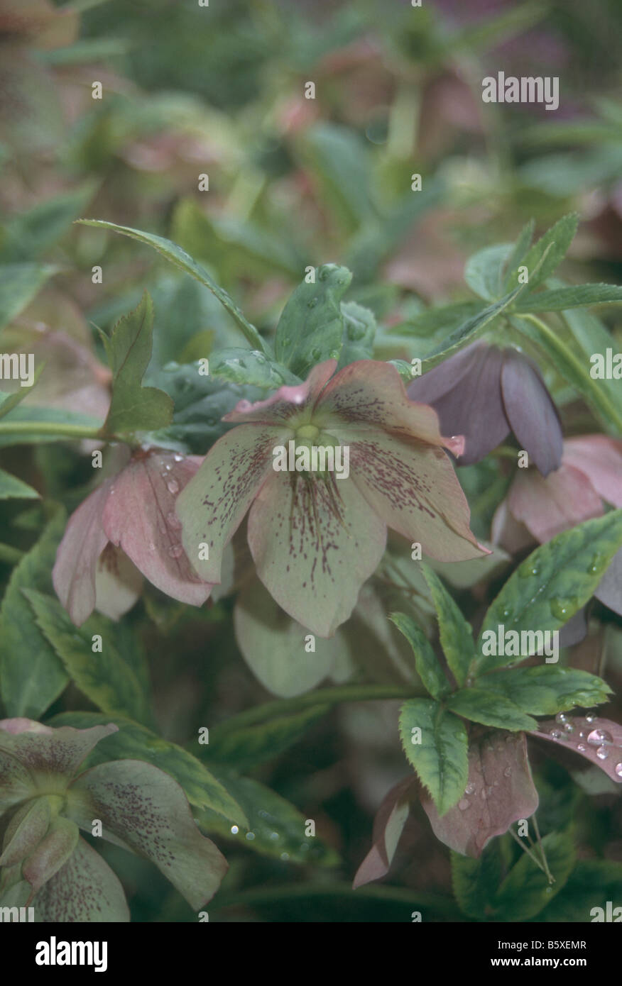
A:
[[[16,721],[0,721],[0,751],[15,757],[36,780],[39,789],[47,793],[53,793],[55,785],[45,789],[46,781],[58,775],[69,781],[96,743],[118,730],[113,723],[86,730],[72,726],[52,729],[25,719],[18,720],[22,724],[19,732],[9,732],[3,728],[3,722],[15,724]]]

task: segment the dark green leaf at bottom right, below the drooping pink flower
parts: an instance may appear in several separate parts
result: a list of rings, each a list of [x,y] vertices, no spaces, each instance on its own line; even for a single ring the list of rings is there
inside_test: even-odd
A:
[[[555,882],[534,861],[521,856],[499,888],[495,902],[498,921],[528,921],[540,913],[566,884],[575,866],[575,846],[569,832],[551,832],[542,839],[542,848]],[[537,848],[534,850],[537,854]]]

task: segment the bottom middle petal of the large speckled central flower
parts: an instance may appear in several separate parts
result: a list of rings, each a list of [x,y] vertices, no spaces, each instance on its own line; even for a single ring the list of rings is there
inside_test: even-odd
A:
[[[248,537],[272,598],[304,627],[330,637],[378,566],[386,527],[350,477],[272,472],[251,509]]]

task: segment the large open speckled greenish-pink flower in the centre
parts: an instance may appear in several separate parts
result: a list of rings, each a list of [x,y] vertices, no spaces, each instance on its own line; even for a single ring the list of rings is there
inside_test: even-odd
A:
[[[443,561],[485,553],[469,529],[469,507],[443,449],[431,408],[409,400],[385,363],[316,366],[304,384],[267,400],[240,401],[240,422],[210,449],[178,501],[183,543],[203,579],[221,581],[222,552],[250,508],[248,540],[257,573],[293,619],[331,636],[350,616],[377,567],[387,526]],[[280,471],[277,453],[349,452],[349,474]],[[201,555],[202,551],[202,555]],[[206,561],[194,559],[205,557]]]

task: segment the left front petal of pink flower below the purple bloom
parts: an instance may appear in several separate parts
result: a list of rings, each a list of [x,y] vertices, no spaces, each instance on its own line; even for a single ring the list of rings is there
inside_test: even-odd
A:
[[[532,469],[518,469],[507,506],[541,543],[602,514],[600,497],[590,480],[573,465],[562,465],[546,479]]]

